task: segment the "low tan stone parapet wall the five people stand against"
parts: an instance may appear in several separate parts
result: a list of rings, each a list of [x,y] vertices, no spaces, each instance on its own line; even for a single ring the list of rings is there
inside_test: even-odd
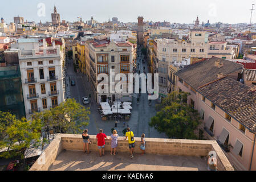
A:
[[[107,136],[109,138],[109,136]],[[127,152],[129,154],[128,139],[123,140],[124,137],[119,137],[118,152]],[[90,151],[96,151],[96,135],[90,135]],[[141,138],[135,137],[135,153],[140,153]],[[145,138],[146,140],[146,154],[159,155],[183,155],[183,156],[208,156],[209,151],[216,151],[217,153],[217,167],[219,170],[234,170],[221,148],[216,141],[210,140],[184,140],[184,139],[159,139],[159,138]],[[39,164],[37,161],[30,168],[34,170],[47,170],[58,156],[61,150],[83,150],[83,139],[81,135],[74,134],[58,134],[55,139],[46,148],[46,164]],[[111,150],[110,140],[105,141],[105,151]],[[50,155],[50,156],[48,156]]]

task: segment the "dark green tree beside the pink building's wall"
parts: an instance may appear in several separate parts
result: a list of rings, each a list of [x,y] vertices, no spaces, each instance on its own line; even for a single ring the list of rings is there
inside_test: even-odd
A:
[[[190,105],[186,104],[188,93],[172,92],[157,105],[159,110],[151,118],[149,126],[169,138],[197,139],[195,131],[201,123],[201,118]]]

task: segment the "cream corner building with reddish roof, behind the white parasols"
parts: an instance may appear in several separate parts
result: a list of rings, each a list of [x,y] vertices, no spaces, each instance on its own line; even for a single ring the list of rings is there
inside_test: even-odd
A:
[[[89,51],[88,55],[90,57],[90,83],[92,92],[94,97],[99,102],[105,101],[132,101],[132,94],[121,93],[116,94],[110,93],[98,93],[97,85],[100,81],[97,80],[97,76],[100,73],[105,73],[108,75],[108,82],[110,83],[110,79],[116,81],[115,78],[110,78],[110,69],[117,73],[124,73],[127,75],[128,73],[132,73],[133,65],[132,61],[134,61],[135,57],[133,57],[135,49],[133,48],[133,44],[130,42],[110,42],[110,40],[105,39],[103,36],[98,36],[94,40],[87,41],[88,49],[86,49],[86,55]],[[124,80],[126,83],[128,81]],[[110,87],[110,86],[109,86]],[[102,87],[101,87],[102,88]],[[104,86],[103,86],[104,89]]]

